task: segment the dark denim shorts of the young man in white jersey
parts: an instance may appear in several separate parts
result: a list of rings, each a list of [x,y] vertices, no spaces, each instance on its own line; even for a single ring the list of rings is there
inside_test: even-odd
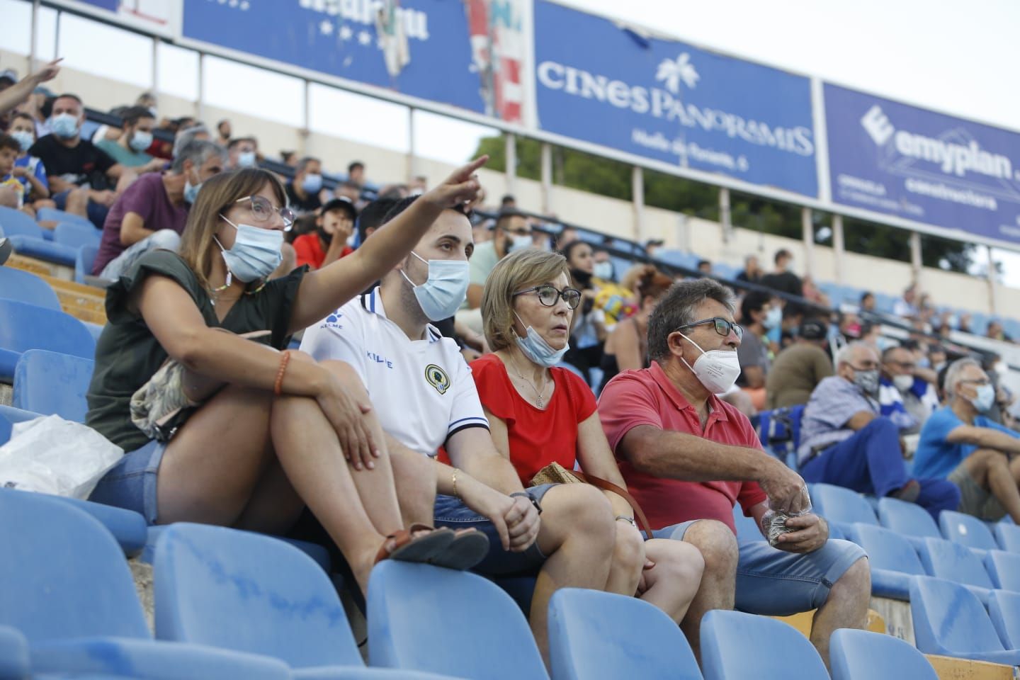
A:
[[[539,484],[524,489],[527,494],[542,503],[546,492],[556,484]],[[546,562],[546,556],[539,550],[536,540],[523,553],[511,553],[503,550],[500,534],[489,518],[483,517],[467,506],[460,499],[452,495],[437,495],[435,510],[436,526],[447,526],[451,529],[474,528],[489,538],[489,555],[471,571],[486,576],[533,576],[539,573]]]

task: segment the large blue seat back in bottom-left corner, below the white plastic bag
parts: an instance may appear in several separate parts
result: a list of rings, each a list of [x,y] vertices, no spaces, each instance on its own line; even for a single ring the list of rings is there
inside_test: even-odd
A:
[[[123,553],[96,519],[61,499],[0,488],[0,625],[30,642],[148,638]]]

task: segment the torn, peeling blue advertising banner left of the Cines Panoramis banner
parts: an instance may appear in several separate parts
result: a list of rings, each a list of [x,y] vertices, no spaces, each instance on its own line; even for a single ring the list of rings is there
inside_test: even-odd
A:
[[[516,122],[524,0],[185,0],[182,33]]]

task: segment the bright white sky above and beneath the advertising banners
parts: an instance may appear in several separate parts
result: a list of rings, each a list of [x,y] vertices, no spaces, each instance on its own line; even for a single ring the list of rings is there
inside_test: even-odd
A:
[[[274,0],[277,1],[277,0]],[[1020,132],[1020,88],[1011,69],[1020,63],[1020,2],[1016,0],[559,0],[662,35],[827,81]],[[0,0],[8,25],[28,27],[31,3]],[[622,8],[622,9],[621,9]],[[625,11],[624,11],[625,10]],[[43,11],[40,54],[58,50],[67,65],[149,88],[152,51],[147,39],[67,16],[60,44],[53,10]],[[29,50],[28,32],[0,32],[0,47]],[[121,47],[130,60],[103,58]],[[136,58],[137,57],[137,58]],[[162,45],[159,88],[197,97],[196,53]],[[18,64],[22,67],[22,64]],[[257,83],[258,86],[254,87]],[[226,60],[207,59],[205,98],[210,104],[258,110],[269,119],[300,126],[301,82]],[[407,110],[333,88],[313,86],[309,117],[316,132],[358,137],[368,144],[406,151]],[[343,110],[343,118],[336,111]],[[452,163],[496,130],[438,115],[415,116],[415,153]],[[996,251],[1006,281],[1020,287],[1020,255]]]

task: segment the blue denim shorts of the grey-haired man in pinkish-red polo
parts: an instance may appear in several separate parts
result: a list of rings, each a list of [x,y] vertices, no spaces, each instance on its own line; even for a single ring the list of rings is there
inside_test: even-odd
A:
[[[683,540],[691,520],[653,531],[656,538]],[[832,584],[867,557],[857,543],[830,538],[814,553],[779,551],[766,540],[737,540],[735,609],[749,614],[789,616],[818,609]]]

